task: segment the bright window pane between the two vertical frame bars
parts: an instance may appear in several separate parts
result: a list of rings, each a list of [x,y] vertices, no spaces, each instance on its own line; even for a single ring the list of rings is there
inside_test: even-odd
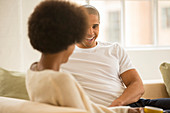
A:
[[[125,45],[152,45],[152,4],[150,0],[125,1]]]

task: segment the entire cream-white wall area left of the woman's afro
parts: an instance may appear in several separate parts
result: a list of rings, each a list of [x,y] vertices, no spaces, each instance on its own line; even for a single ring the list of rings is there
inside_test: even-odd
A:
[[[25,71],[39,54],[29,45],[27,21],[40,0],[0,0],[0,67]]]

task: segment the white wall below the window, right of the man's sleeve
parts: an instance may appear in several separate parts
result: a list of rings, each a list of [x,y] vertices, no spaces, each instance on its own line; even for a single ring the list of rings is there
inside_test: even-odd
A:
[[[143,80],[162,79],[159,66],[170,62],[170,49],[127,50]]]

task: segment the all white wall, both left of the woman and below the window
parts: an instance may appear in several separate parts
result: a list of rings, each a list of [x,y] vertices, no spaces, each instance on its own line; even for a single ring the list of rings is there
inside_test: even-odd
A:
[[[40,54],[27,36],[27,21],[40,0],[0,0],[0,67],[24,71]],[[6,13],[8,12],[8,13]],[[170,49],[127,50],[143,80],[161,79],[159,65],[170,62]]]

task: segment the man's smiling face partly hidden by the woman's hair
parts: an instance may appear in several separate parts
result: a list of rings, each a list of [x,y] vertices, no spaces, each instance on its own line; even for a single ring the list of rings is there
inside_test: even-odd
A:
[[[89,14],[89,28],[85,39],[77,44],[80,48],[92,48],[97,45],[96,39],[99,34],[99,20],[98,16],[94,14]]]

